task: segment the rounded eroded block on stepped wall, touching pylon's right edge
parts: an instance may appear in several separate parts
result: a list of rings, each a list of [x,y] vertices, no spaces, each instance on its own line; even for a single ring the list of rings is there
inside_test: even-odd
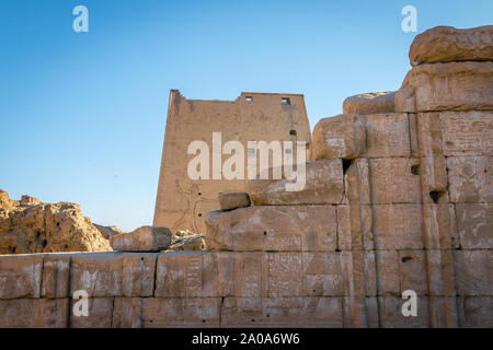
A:
[[[366,128],[363,118],[357,115],[340,115],[317,122],[313,128],[310,158],[312,161],[349,160],[357,158],[365,148]]]

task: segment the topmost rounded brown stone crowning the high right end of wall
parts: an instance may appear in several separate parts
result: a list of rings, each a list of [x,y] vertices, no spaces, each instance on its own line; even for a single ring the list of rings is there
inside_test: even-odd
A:
[[[411,66],[493,60],[493,25],[457,30],[436,26],[423,32],[409,50]]]

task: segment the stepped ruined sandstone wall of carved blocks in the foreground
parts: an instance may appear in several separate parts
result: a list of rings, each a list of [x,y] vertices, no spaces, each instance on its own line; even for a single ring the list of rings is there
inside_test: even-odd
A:
[[[303,190],[215,189],[207,252],[0,257],[0,326],[493,327],[492,39],[493,26],[416,36],[395,94],[317,124]],[[78,290],[88,317],[71,312]]]

